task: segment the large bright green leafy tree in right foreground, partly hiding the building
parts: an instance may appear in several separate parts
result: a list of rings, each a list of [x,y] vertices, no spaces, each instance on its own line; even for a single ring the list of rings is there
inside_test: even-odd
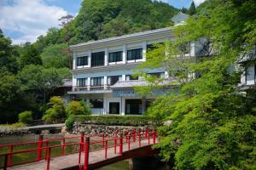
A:
[[[176,40],[149,52],[139,69],[145,76],[145,68],[164,67],[174,79],[169,87],[178,88],[177,94],[160,96],[149,109],[150,115],[172,120],[160,127],[166,137],[155,148],[165,161],[174,156],[176,169],[256,167],[255,91],[237,92],[241,70],[230,71],[255,45],[255,8],[252,0],[206,1],[187,25],[175,28]],[[187,42],[203,47],[198,57],[186,57]],[[163,80],[144,78],[151,82],[151,91],[162,88]]]

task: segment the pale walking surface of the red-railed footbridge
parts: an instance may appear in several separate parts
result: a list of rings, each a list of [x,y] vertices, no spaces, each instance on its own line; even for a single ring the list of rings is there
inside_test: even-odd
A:
[[[148,145],[148,139],[143,139],[141,141],[141,147]],[[137,150],[139,147],[138,142],[131,142],[130,150]],[[128,152],[128,144],[123,144],[123,155],[125,152]],[[117,146],[116,154],[114,154],[114,148],[108,148],[107,152],[108,158],[118,158],[119,155],[119,146]],[[105,159],[105,150],[97,150],[89,153],[89,166],[90,164],[96,164],[97,162],[107,161]],[[20,166],[10,167],[11,170],[44,170],[46,169],[46,161],[39,161],[28,163]],[[84,164],[84,152],[81,154],[81,164]],[[79,165],[79,154],[72,154],[67,156],[57,156],[50,159],[49,169],[66,169],[70,167],[75,167]]]

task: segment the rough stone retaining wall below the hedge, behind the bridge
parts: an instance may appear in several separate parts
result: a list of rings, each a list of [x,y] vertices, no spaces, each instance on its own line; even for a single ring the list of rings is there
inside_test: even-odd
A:
[[[124,134],[131,134],[133,130],[138,131],[140,129],[141,132],[144,132],[145,129],[152,129],[149,126],[145,127],[131,127],[131,126],[106,126],[106,125],[95,125],[95,124],[82,124],[79,122],[75,122],[73,124],[73,134],[79,134],[84,132],[84,135],[105,135],[108,138],[114,137],[115,134],[117,136]]]

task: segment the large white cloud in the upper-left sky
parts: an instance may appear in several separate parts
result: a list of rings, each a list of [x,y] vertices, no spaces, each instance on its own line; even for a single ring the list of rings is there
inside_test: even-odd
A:
[[[65,14],[63,8],[47,6],[44,0],[15,0],[12,5],[0,7],[0,27],[21,33],[13,43],[35,42],[49,27],[58,26],[58,19]]]

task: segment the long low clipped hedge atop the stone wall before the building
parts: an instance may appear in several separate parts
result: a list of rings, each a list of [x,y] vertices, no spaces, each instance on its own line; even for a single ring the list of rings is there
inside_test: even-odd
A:
[[[98,125],[119,125],[119,126],[156,126],[160,120],[151,116],[74,116],[75,122],[94,123]]]

